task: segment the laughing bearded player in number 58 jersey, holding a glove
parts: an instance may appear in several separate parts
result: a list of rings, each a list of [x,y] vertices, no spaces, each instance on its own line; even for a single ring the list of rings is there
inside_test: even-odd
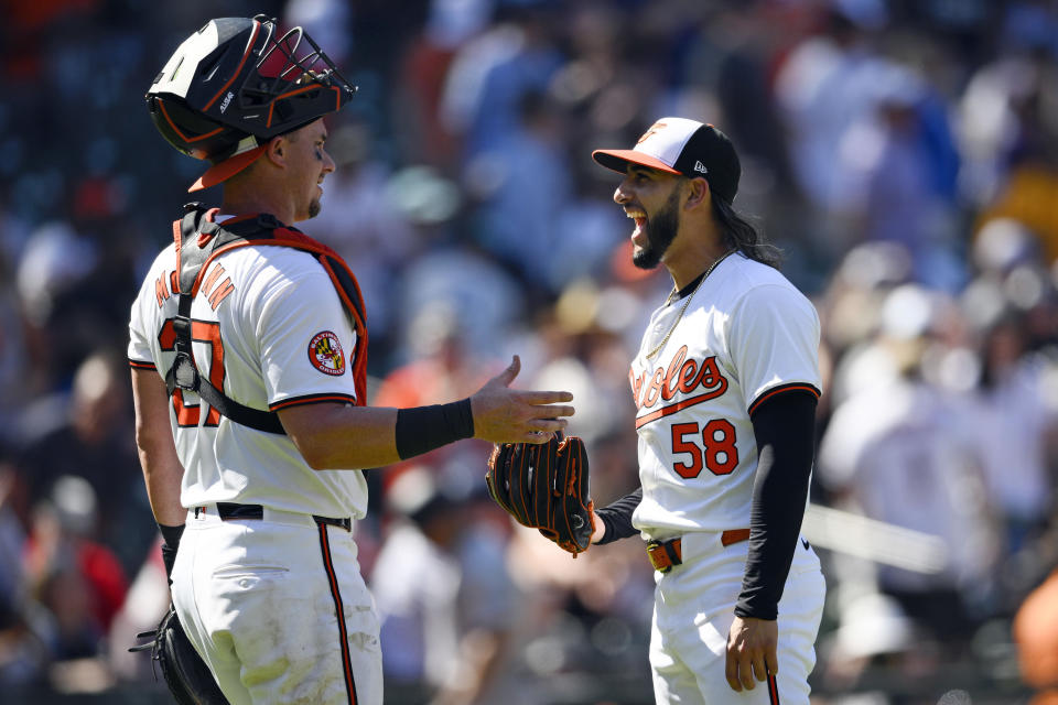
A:
[[[723,132],[662,118],[631,150],[593,158],[624,176],[614,200],[635,223],[634,263],[673,281],[629,372],[641,487],[595,511],[569,437],[498,446],[489,489],[574,555],[643,536],[658,703],[808,705],[825,589],[799,536],[819,317],[734,210],[741,166]]]

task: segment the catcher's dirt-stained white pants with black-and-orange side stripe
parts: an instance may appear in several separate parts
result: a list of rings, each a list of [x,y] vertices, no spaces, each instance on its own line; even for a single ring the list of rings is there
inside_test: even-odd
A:
[[[173,604],[228,702],[381,705],[378,617],[356,556],[350,532],[306,514],[188,512]]]

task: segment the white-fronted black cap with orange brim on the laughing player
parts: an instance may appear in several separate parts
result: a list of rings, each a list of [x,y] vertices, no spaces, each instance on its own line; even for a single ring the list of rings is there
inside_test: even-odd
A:
[[[726,134],[688,118],[661,118],[630,150],[595,150],[592,159],[624,174],[628,164],[641,164],[669,174],[704,178],[728,204],[738,192],[742,166]]]

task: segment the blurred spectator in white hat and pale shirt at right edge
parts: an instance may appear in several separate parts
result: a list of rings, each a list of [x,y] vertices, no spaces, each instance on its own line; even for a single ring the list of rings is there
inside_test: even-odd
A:
[[[1023,570],[1055,510],[1058,463],[1058,356],[1054,349],[1056,291],[1040,260],[1040,243],[1016,220],[990,220],[973,245],[979,271],[961,295],[969,333],[980,349],[973,440],[990,496],[1002,514],[1004,552]],[[1025,553],[1023,550],[1029,549]],[[1021,555],[1018,555],[1021,554]],[[1029,561],[1032,563],[1032,561]],[[1049,570],[1004,571],[1011,598]]]

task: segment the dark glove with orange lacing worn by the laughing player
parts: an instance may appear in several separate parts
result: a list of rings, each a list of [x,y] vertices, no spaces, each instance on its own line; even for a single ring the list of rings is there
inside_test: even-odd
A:
[[[518,523],[533,529],[576,557],[595,531],[589,496],[584,442],[504,443],[493,448],[485,476],[488,492]]]

